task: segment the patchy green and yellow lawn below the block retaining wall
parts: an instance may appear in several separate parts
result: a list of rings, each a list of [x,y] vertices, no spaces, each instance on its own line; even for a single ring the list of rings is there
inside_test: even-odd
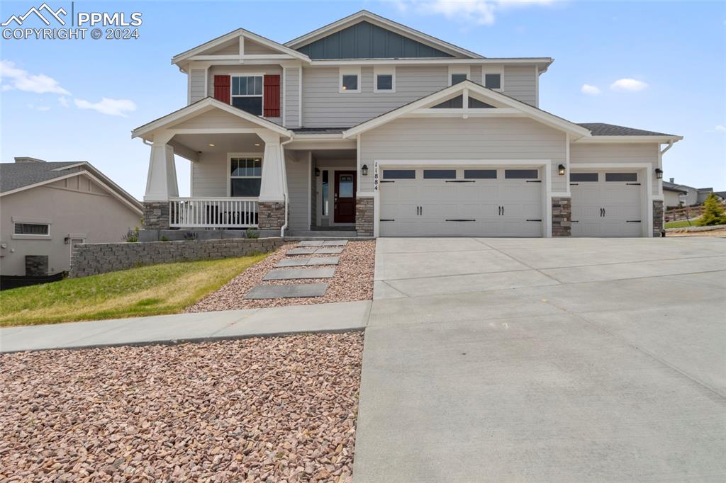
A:
[[[265,255],[150,265],[0,292],[0,326],[179,313]]]

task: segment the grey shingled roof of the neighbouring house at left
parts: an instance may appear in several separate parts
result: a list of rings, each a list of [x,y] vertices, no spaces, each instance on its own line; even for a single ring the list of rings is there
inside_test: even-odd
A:
[[[139,215],[143,205],[126,190],[111,181],[87,161],[62,162],[3,162],[0,163],[0,197],[26,189],[53,183],[62,178],[86,174],[101,184],[115,197],[133,208]]]

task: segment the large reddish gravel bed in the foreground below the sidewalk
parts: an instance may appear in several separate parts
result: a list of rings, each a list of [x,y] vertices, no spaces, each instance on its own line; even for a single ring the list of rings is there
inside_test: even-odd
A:
[[[363,334],[0,355],[0,481],[349,482]]]

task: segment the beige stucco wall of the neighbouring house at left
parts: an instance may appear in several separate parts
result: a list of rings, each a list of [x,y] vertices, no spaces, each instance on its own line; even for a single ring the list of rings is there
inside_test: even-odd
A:
[[[50,222],[50,236],[20,239],[13,235],[13,217],[38,223]],[[50,273],[70,268],[73,234],[86,243],[121,241],[129,228],[140,226],[141,215],[109,194],[87,176],[75,176],[55,183],[0,197],[0,273],[25,275],[25,255],[48,255]]]

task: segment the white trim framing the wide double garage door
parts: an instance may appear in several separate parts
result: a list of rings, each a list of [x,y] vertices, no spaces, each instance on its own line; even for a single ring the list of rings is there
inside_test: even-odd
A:
[[[380,191],[378,180],[380,168],[396,166],[457,166],[465,168],[491,167],[507,168],[508,166],[532,166],[542,168],[542,236],[552,237],[552,197],[568,196],[566,193],[552,192],[552,160],[375,160],[373,163],[373,236],[378,238],[380,232]]]

